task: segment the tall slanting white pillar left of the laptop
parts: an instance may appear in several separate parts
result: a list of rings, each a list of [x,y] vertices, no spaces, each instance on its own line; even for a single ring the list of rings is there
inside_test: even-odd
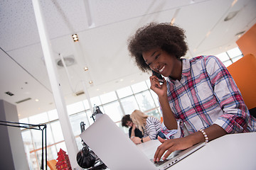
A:
[[[50,46],[50,40],[48,38],[48,33],[46,31],[46,26],[43,20],[43,15],[41,13],[41,7],[38,0],[32,0],[33,8],[36,15],[36,23],[38,26],[38,32],[41,40],[41,45],[43,49],[43,55],[45,57],[46,69],[48,72],[48,77],[50,79],[50,86],[53,90],[53,97],[55,101],[55,106],[58,111],[58,116],[60,120],[60,126],[63,131],[63,136],[65,140],[65,145],[68,149],[68,156],[70,159],[70,164],[72,169],[81,169],[76,161],[76,155],[78,153],[78,146],[75,142],[75,137],[72,132],[70,120],[68,118],[68,112],[63,99],[63,94],[61,92],[60,81],[58,80],[58,72],[54,62],[53,50]]]

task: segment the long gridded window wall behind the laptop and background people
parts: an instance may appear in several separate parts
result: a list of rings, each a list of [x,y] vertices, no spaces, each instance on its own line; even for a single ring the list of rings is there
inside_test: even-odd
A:
[[[139,84],[90,98],[90,102],[92,107],[93,105],[99,106],[102,113],[109,115],[119,128],[128,133],[128,128],[122,127],[121,119],[124,115],[131,114],[135,109],[139,109],[148,115],[154,115],[156,118],[161,118],[157,96],[149,89],[148,84],[150,84],[149,81],[142,81]],[[67,106],[67,111],[78,149],[82,149],[82,142],[79,137],[81,133],[80,123],[84,122],[85,128],[88,128],[94,122],[89,102],[85,100],[70,104]],[[20,120],[20,122],[46,123],[48,160],[57,159],[60,148],[68,154],[56,110],[33,115]],[[41,165],[41,132],[22,129],[22,137],[30,169],[39,169]]]

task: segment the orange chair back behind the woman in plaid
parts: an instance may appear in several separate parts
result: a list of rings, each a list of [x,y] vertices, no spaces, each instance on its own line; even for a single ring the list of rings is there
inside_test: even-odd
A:
[[[252,116],[256,118],[256,57],[245,55],[228,68]]]

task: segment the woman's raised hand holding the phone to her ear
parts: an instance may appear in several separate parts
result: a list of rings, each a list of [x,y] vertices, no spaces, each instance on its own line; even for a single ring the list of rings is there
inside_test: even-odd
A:
[[[156,76],[149,77],[150,79],[150,89],[154,91],[157,96],[166,96],[167,95],[167,87],[166,87],[166,80],[164,79],[164,83],[160,85],[159,80]]]

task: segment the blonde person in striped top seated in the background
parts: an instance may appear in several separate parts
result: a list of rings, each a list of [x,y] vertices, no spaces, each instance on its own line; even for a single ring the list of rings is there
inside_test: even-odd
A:
[[[140,144],[149,140],[156,140],[157,137],[165,139],[166,137],[161,132],[160,120],[153,116],[146,115],[142,111],[135,110],[131,114],[132,122],[142,131],[143,137],[131,138],[135,144]]]

